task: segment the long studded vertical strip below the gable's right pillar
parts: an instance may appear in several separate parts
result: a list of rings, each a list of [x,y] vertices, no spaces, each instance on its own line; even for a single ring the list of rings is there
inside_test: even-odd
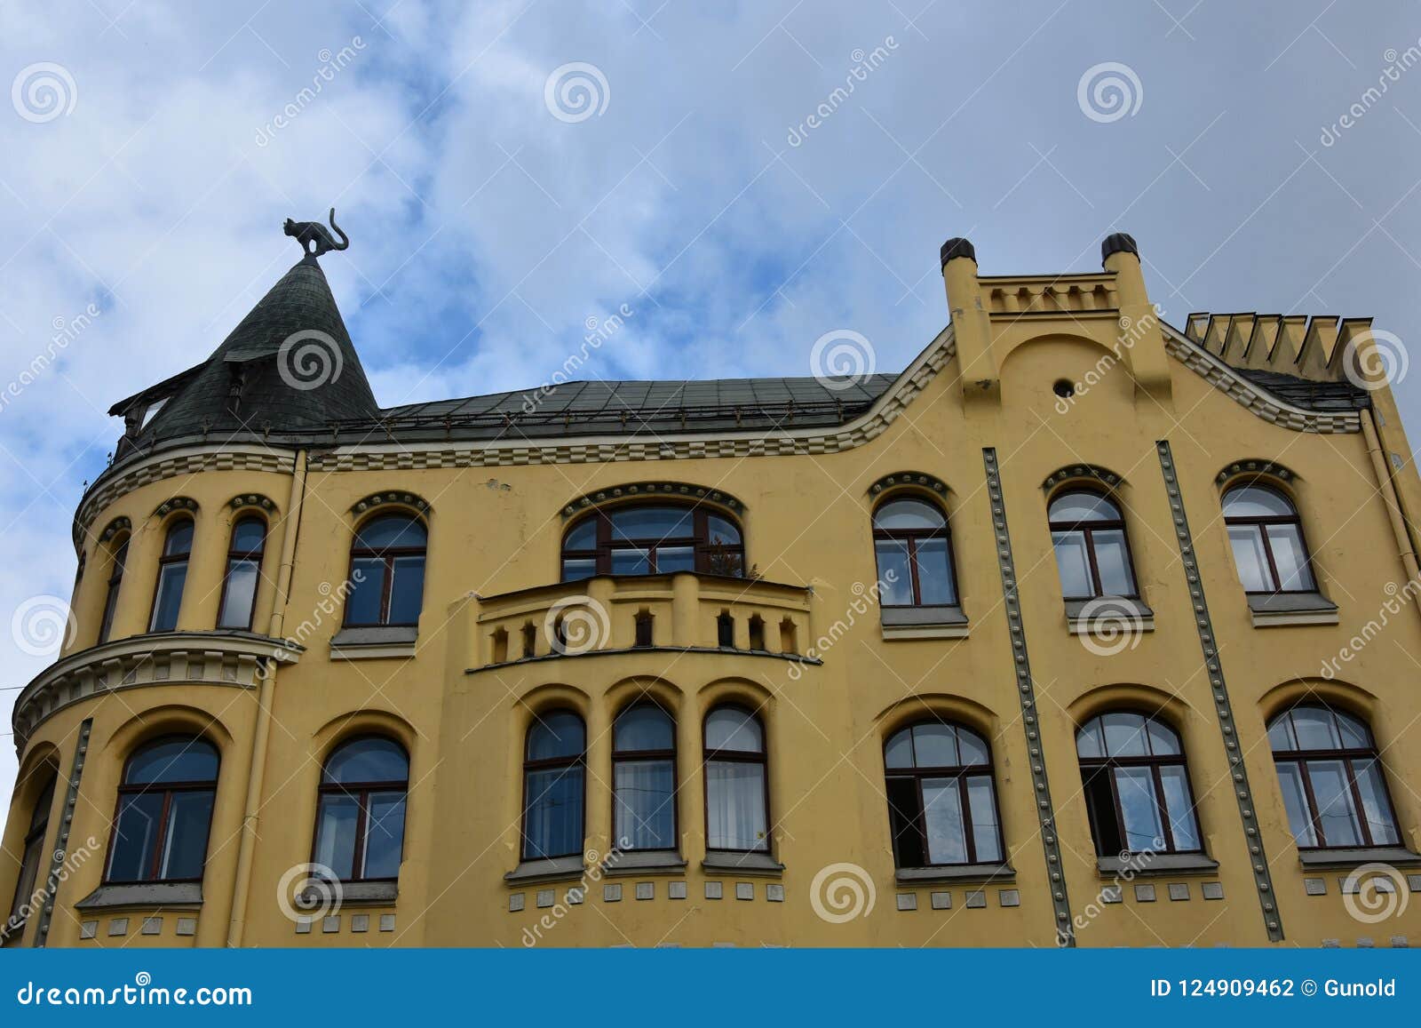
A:
[[[1164,471],[1164,486],[1169,493],[1169,512],[1174,515],[1174,533],[1179,542],[1179,559],[1189,584],[1189,601],[1194,606],[1194,624],[1199,631],[1199,646],[1204,650],[1204,664],[1209,671],[1209,690],[1214,692],[1214,710],[1219,717],[1219,731],[1223,734],[1223,749],[1229,759],[1229,775],[1233,796],[1238,799],[1239,816],[1243,819],[1243,835],[1248,837],[1249,864],[1253,869],[1253,887],[1263,907],[1263,926],[1270,941],[1283,941],[1283,921],[1277,916],[1277,900],[1273,879],[1268,872],[1268,856],[1263,853],[1263,836],[1258,826],[1258,810],[1253,805],[1253,791],[1248,783],[1248,769],[1239,745],[1233,721],[1233,707],[1223,684],[1223,665],[1219,663],[1218,640],[1214,623],[1209,620],[1209,604],[1204,596],[1204,579],[1199,576],[1199,562],[1189,535],[1189,520],[1184,515],[1184,496],[1179,493],[1179,479],[1174,469],[1174,454],[1167,441],[1155,444],[1160,451],[1160,468]]]

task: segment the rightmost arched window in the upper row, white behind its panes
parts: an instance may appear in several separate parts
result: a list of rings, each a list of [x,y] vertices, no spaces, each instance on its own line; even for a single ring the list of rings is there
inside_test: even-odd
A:
[[[1266,485],[1223,493],[1223,523],[1246,593],[1312,593],[1312,562],[1293,502]]]

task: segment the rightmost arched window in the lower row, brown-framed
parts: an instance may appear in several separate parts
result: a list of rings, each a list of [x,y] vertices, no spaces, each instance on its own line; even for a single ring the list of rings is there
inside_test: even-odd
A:
[[[1307,704],[1273,718],[1268,741],[1299,849],[1400,842],[1377,744],[1366,724]]]

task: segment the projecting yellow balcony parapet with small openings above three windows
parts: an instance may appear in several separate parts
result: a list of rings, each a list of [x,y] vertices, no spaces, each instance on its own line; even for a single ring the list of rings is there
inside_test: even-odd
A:
[[[524,660],[664,650],[818,664],[807,586],[676,572],[598,576],[476,597],[473,671]]]

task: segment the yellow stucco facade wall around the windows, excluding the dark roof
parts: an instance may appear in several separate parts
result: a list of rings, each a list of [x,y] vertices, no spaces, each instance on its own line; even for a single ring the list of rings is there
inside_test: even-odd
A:
[[[0,896],[51,778],[37,880],[57,887],[9,944],[1415,941],[1421,479],[1390,388],[1349,382],[1351,358],[1376,371],[1366,323],[1223,316],[1177,330],[1155,317],[1133,242],[1113,239],[1101,272],[1007,277],[949,243],[949,323],[843,424],[310,445],[254,434],[122,454],[75,518],[72,637],[16,704]],[[1296,506],[1312,607],[1246,594],[1221,508],[1246,481]],[[1063,600],[1047,508],[1079,483],[1124,513],[1138,600],[1123,628]],[[961,620],[902,621],[874,601],[874,512],[905,496],[946,515]],[[732,519],[753,576],[561,582],[571,523],[648,498]],[[352,539],[391,510],[428,530],[418,630],[342,638]],[[253,630],[219,630],[229,539],[247,515],[267,526]],[[176,626],[151,633],[180,518],[195,528]],[[593,611],[590,648],[558,653],[557,610]],[[1368,623],[1380,631],[1363,636]],[[658,862],[621,853],[612,826],[612,719],[647,697],[675,725],[675,849]],[[769,859],[739,867],[706,846],[702,725],[728,701],[764,732]],[[1266,725],[1300,701],[1370,727],[1394,843],[1299,847]],[[585,869],[522,859],[524,738],[554,710],[585,722]],[[1121,869],[1097,852],[1077,732],[1115,710],[1178,734],[1202,853]],[[990,869],[897,866],[884,746],[925,719],[990,746],[1005,847]],[[293,916],[284,876],[311,860],[323,762],[369,734],[409,758],[398,883]],[[220,755],[200,890],[105,892],[125,761],[172,735]],[[1380,873],[1393,893],[1346,894],[1378,863],[1393,870],[1367,870],[1364,886]],[[1360,899],[1401,910],[1360,920]]]

